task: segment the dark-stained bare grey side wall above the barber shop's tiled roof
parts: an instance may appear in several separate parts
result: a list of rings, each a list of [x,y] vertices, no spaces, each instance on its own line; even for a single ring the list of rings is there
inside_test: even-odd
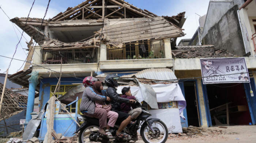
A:
[[[218,10],[222,9],[221,5],[218,6],[220,6]],[[237,10],[238,5],[234,5],[221,16],[221,19],[217,23],[209,28],[207,33],[204,29],[203,34],[200,37],[202,44],[212,44],[215,47],[225,49],[230,53],[245,55],[246,53],[244,49],[244,42],[241,34]],[[215,13],[211,14],[214,15]],[[209,24],[207,23],[207,20],[211,19],[209,16],[210,15],[208,13],[205,26]]]

